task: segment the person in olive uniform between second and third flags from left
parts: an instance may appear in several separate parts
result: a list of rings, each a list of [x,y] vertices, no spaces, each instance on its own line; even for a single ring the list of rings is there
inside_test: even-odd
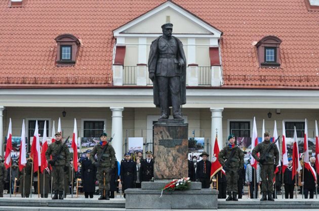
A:
[[[29,158],[28,154],[26,155],[26,159],[27,163],[25,164],[25,167],[22,169],[22,171],[19,171],[17,177],[20,182],[19,192],[21,193],[22,198],[29,197],[31,188],[32,160]]]

